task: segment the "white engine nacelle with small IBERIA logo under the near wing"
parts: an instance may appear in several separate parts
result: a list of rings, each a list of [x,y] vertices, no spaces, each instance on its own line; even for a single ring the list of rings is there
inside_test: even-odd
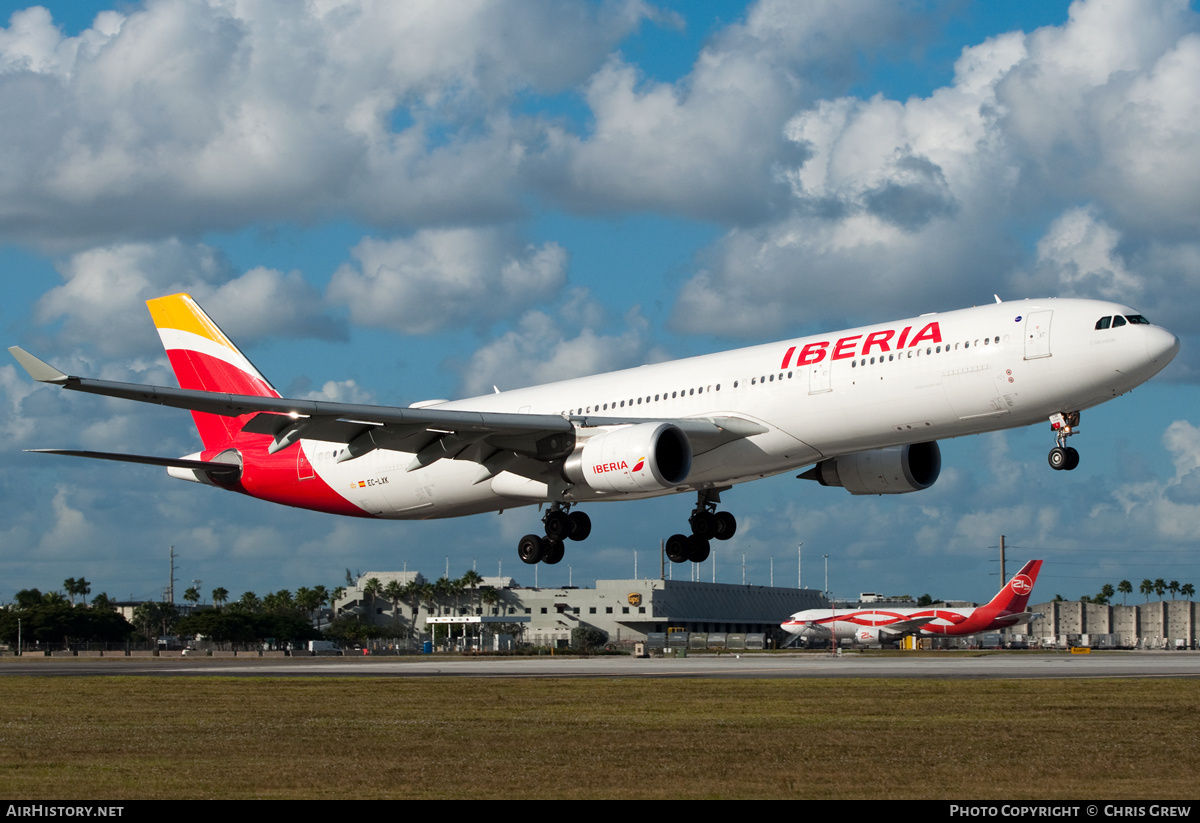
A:
[[[572,483],[623,494],[678,486],[690,471],[691,443],[671,423],[637,423],[596,434],[563,465]]]

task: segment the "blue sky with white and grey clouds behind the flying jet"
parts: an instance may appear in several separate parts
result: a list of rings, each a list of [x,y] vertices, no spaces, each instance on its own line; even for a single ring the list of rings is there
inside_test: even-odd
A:
[[[1186,2],[2,4],[0,328],[169,383],[143,301],[194,294],[288,394],[407,404],[1006,299],[1136,306],[1152,384],[943,443],[922,493],[725,495],[716,579],[982,600],[1200,578],[1200,16]],[[5,22],[6,20],[6,22]],[[884,193],[904,197],[884,198]],[[175,455],[186,415],[0,366],[0,599],[85,576],[263,593],[503,564],[534,510],[370,523],[31,447]],[[539,571],[656,570],[691,499],[592,506]],[[677,569],[676,573],[688,573]],[[712,567],[701,570],[712,578]]]

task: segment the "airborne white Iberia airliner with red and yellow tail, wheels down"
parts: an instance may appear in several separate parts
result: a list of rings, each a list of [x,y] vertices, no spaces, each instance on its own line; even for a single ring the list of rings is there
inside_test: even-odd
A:
[[[851,494],[929,488],[937,440],[1050,421],[1050,465],[1073,469],[1079,413],[1165,367],[1178,338],[1128,306],[1001,302],[408,408],[281,397],[186,294],[148,302],[179,389],[71,377],[19,347],[29,374],[74,391],[190,409],[182,458],[54,453],[167,467],[174,477],[289,506],[427,519],[548,504],[526,563],[558,563],[592,530],[581,503],[692,492],[701,561],[733,535],[736,483],[799,476]]]

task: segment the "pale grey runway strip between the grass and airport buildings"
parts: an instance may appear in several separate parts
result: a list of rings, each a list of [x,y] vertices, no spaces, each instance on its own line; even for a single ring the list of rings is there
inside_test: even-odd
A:
[[[1200,653],[611,657],[4,657],[0,677],[1196,678]]]

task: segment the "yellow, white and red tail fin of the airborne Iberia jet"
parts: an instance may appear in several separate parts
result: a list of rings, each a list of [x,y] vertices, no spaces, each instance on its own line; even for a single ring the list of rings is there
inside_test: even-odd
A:
[[[280,392],[233,344],[188,294],[148,300],[150,317],[180,389],[254,397],[278,397]],[[192,412],[205,449],[228,444],[244,420]]]

